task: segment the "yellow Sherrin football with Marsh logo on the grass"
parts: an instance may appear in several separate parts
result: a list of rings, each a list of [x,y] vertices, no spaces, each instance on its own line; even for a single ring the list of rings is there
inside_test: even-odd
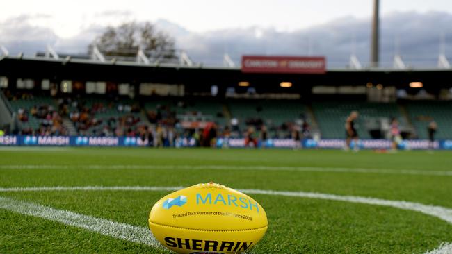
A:
[[[264,237],[264,208],[241,192],[201,183],[161,198],[149,226],[163,246],[177,253],[243,253]]]

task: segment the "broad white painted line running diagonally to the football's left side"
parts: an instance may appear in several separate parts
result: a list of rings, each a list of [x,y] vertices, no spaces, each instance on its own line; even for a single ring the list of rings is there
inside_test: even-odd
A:
[[[161,248],[159,242],[154,238],[149,229],[131,226],[126,223],[108,221],[88,215],[78,214],[66,210],[58,210],[45,205],[17,201],[11,198],[0,196],[0,208],[17,212],[19,214],[30,215],[48,219],[49,221],[57,221],[65,225],[83,228],[92,232],[98,232],[102,235],[124,239],[129,242],[137,242],[146,244],[154,248]]]

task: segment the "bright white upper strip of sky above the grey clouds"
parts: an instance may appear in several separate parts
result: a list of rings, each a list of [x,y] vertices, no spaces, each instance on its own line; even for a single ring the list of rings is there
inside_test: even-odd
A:
[[[295,31],[339,17],[370,17],[372,0],[15,0],[3,3],[0,21],[28,15],[33,24],[47,26],[60,37],[72,37],[95,25],[124,20],[166,19],[189,31],[259,26]],[[450,0],[382,0],[382,15],[394,11],[452,13]]]

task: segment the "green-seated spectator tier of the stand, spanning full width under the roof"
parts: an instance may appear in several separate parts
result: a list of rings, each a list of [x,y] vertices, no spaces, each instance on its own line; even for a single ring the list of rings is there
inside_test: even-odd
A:
[[[344,123],[351,111],[360,112],[358,134],[362,139],[389,138],[389,121],[396,117],[405,138],[426,139],[427,126],[435,120],[437,138],[452,137],[449,101],[401,101],[371,103],[367,101],[318,101],[300,99],[221,99],[209,97],[129,97],[44,96],[8,90],[11,108],[19,120],[19,134],[140,136],[144,126],[178,127],[181,124],[214,122],[219,130],[234,127],[235,137],[243,137],[250,126],[257,135],[261,126],[272,138],[291,137],[293,126],[306,121],[323,139],[344,138]],[[69,121],[68,121],[69,120]],[[69,124],[68,124],[69,123]]]

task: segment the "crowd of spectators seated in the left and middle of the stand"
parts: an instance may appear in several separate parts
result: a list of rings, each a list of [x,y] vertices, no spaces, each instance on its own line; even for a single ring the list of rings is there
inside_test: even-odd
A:
[[[137,137],[150,146],[175,146],[177,139],[182,137],[195,140],[195,146],[215,146],[217,137],[244,137],[255,143],[257,139],[273,138],[268,132],[281,131],[284,137],[292,137],[296,135],[294,133],[305,133],[305,129],[309,127],[301,127],[299,124],[282,124],[282,126],[269,126],[267,129],[263,119],[249,118],[242,121],[252,128],[243,128],[243,126],[239,128],[239,120],[232,118],[226,126],[210,123],[203,128],[184,129],[177,119],[177,108],[171,108],[170,105],[157,105],[145,112],[149,122],[146,125],[143,124],[139,114],[136,114],[141,112],[138,103],[122,103],[115,99],[111,101],[91,99],[92,103],[87,103],[83,98],[63,97],[51,99],[56,105],[54,107],[52,103],[39,103],[39,100],[35,100],[29,93],[11,94],[6,91],[6,96],[13,104],[18,100],[31,101],[30,104],[33,104],[33,101],[36,102],[31,108],[17,110],[17,120],[22,123],[22,128],[14,134],[22,135],[69,135],[68,130],[63,126],[62,117],[72,121],[77,135]],[[177,107],[182,106],[177,104]],[[201,112],[186,114],[202,115]],[[30,117],[39,120],[38,128],[26,124]]]

